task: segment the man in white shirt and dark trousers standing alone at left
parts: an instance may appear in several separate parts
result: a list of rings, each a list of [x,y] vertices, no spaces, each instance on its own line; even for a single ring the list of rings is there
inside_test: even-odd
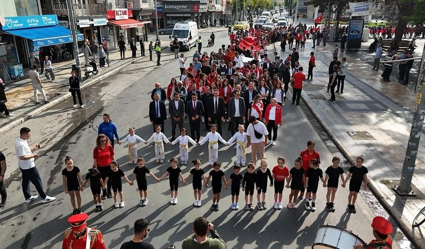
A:
[[[42,179],[40,177],[39,171],[34,163],[34,159],[38,158],[40,155],[32,153],[32,150],[40,149],[40,144],[35,144],[31,149],[28,145],[27,139],[31,136],[31,129],[23,127],[20,130],[20,136],[16,139],[15,143],[15,152],[16,157],[18,158],[18,166],[22,172],[22,191],[24,192],[25,203],[29,203],[39,196],[31,195],[30,181],[34,184],[39,192],[40,197],[42,198],[42,203],[48,203],[56,200],[55,197],[50,197],[44,193],[42,186]]]

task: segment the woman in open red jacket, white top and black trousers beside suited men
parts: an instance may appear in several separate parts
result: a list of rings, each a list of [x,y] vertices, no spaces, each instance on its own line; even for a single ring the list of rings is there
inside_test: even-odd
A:
[[[264,113],[264,121],[267,125],[268,143],[271,141],[271,145],[276,145],[277,128],[282,125],[282,107],[277,104],[276,98],[272,98],[270,104],[267,105]],[[272,130],[273,138],[271,136]]]

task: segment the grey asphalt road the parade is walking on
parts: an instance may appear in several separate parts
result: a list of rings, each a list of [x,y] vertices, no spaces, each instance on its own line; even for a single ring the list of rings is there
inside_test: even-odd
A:
[[[207,34],[203,34],[205,36]],[[221,44],[228,43],[227,30],[216,33],[216,45],[203,50],[211,52],[217,50]],[[195,49],[186,52],[189,56]],[[154,56],[155,57],[155,56]],[[150,93],[155,82],[162,83],[163,87],[170,82],[171,77],[178,76],[178,61],[174,59],[173,53],[164,51],[162,56],[163,65],[154,67],[153,63],[134,63],[120,73],[110,77],[102,83],[85,91],[86,99],[89,102],[88,112],[95,112],[93,119],[87,123],[79,125],[81,120],[85,120],[85,113],[82,110],[70,111],[71,100],[65,101],[51,110],[42,113],[31,123],[34,138],[30,138],[30,144],[36,141],[59,143],[46,152],[36,164],[42,174],[44,188],[51,196],[55,196],[57,201],[43,205],[40,199],[28,205],[23,203],[23,195],[20,188],[20,174],[14,172],[14,178],[8,184],[8,203],[0,209],[0,220],[3,232],[0,235],[2,247],[16,248],[59,248],[61,246],[63,231],[69,227],[67,219],[72,212],[69,196],[63,192],[61,170],[64,168],[63,160],[66,155],[74,158],[76,166],[82,170],[83,177],[86,170],[92,166],[92,149],[95,146],[97,136],[97,125],[102,122],[102,113],[110,113],[111,118],[118,126],[119,134],[122,138],[127,135],[128,127],[136,127],[136,134],[142,138],[149,138],[152,133],[152,126],[149,123],[147,106],[150,102]],[[49,118],[50,117],[50,118]],[[55,118],[51,118],[55,117]],[[56,122],[56,123],[54,123]],[[50,124],[55,128],[47,128]],[[79,125],[75,131],[71,131]],[[224,127],[227,124],[224,124]],[[21,127],[21,126],[19,126]],[[17,128],[19,128],[17,127]],[[188,123],[185,123],[188,128]],[[46,130],[47,129],[47,130]],[[230,133],[224,128],[223,137],[227,140]],[[13,146],[15,133],[8,134],[8,146]],[[55,138],[55,132],[60,134],[60,139]],[[47,138],[38,135],[45,134]],[[170,137],[170,121],[165,125],[165,134]],[[203,132],[205,135],[205,132]],[[12,137],[12,138],[11,138]],[[266,157],[271,169],[276,165],[276,158],[284,156],[287,158],[287,166],[292,167],[299,152],[306,147],[308,140],[316,141],[316,150],[321,154],[322,166],[324,170],[331,165],[333,153],[321,140],[313,125],[306,118],[302,109],[292,106],[288,101],[284,107],[283,125],[279,128],[279,136],[276,146],[268,146]],[[166,147],[166,158],[178,156],[178,147]],[[153,145],[139,145],[138,153],[143,155],[147,161],[146,166],[158,177],[161,176],[169,164],[157,165],[154,162]],[[8,160],[14,160],[11,153],[13,147],[9,148]],[[115,147],[116,158],[121,164],[128,177],[131,177],[134,166],[127,163],[127,146],[117,145]],[[335,151],[333,151],[335,153]],[[233,171],[233,160],[235,159],[234,146],[222,146],[219,150],[219,161],[222,162],[222,169],[226,177]],[[250,158],[248,154],[248,159]],[[202,167],[207,172],[208,149],[201,146],[190,148],[189,158],[200,158],[203,161]],[[182,173],[187,176],[192,166],[182,166]],[[242,171],[242,173],[245,172]],[[222,191],[220,210],[211,211],[212,190],[203,190],[203,206],[193,207],[193,191],[191,184],[182,186],[178,193],[178,204],[169,204],[169,183],[168,178],[160,183],[156,183],[148,177],[149,204],[146,207],[138,207],[139,194],[137,186],[123,184],[126,207],[114,208],[113,200],[103,201],[104,211],[94,213],[92,196],[89,189],[82,193],[83,210],[89,214],[88,225],[102,231],[107,248],[119,248],[125,241],[131,240],[133,236],[133,223],[138,218],[147,218],[151,221],[150,232],[145,239],[152,243],[155,248],[164,248],[175,245],[180,248],[181,241],[192,233],[192,222],[198,216],[205,216],[211,221],[223,239],[227,242],[227,248],[310,248],[314,242],[317,228],[322,224],[336,225],[358,234],[365,241],[372,239],[372,228],[370,223],[374,216],[370,207],[359,198],[356,203],[357,213],[345,212],[348,189],[340,188],[337,192],[336,212],[329,213],[326,208],[326,191],[319,187],[317,210],[315,212],[306,211],[302,206],[296,210],[283,208],[274,210],[270,208],[273,203],[273,189],[267,192],[268,209],[259,211],[245,211],[242,208],[238,211],[230,209],[230,190]],[[34,187],[32,187],[34,191]],[[34,192],[35,193],[35,192]],[[289,190],[284,190],[284,206],[286,206]],[[255,200],[255,199],[254,199]],[[300,202],[300,201],[299,201]],[[254,202],[255,203],[255,202]],[[240,206],[244,206],[241,195]],[[396,246],[395,246],[396,247]]]

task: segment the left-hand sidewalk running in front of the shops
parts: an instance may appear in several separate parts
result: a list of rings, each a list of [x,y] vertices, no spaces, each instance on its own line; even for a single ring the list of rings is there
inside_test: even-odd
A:
[[[168,41],[161,41],[161,44],[163,44],[161,47],[164,50],[168,47],[169,43]],[[148,46],[145,46],[145,48],[148,48]],[[80,86],[81,89],[84,89],[94,83],[101,81],[102,79],[107,78],[110,75],[115,74],[127,65],[134,63],[136,60],[143,59],[143,61],[149,61],[149,51],[147,49],[145,51],[145,55],[145,57],[140,57],[140,50],[137,50],[137,57],[131,58],[131,50],[129,49],[128,45],[125,60],[121,60],[120,51],[118,49],[110,51],[110,67],[106,65],[105,68],[98,68],[99,73],[97,75],[86,80],[84,78],[85,81]],[[151,63],[156,63],[156,55],[153,55],[152,59],[154,61]],[[84,57],[81,57],[80,61],[84,64]],[[5,91],[8,101],[6,106],[7,109],[9,109],[9,112],[14,116],[0,118],[0,134],[6,132],[18,124],[25,122],[33,116],[41,113],[43,110],[46,110],[49,107],[71,97],[71,93],[68,91],[68,89],[72,64],[75,64],[75,60],[54,63],[53,68],[56,76],[54,82],[47,81],[44,77],[44,74],[40,75],[44,91],[47,95],[47,98],[50,100],[50,102],[47,104],[36,105],[34,103],[34,90],[30,79],[23,79],[13,83],[7,83]],[[82,70],[84,70],[84,66],[82,67]],[[42,99],[40,93],[39,99]]]

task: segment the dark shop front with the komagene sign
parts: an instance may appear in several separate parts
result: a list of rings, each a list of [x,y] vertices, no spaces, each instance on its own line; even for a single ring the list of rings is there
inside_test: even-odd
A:
[[[163,0],[164,20],[166,26],[174,25],[179,21],[192,20],[201,23],[207,20],[207,3],[208,0],[191,0],[191,1],[168,1]]]

